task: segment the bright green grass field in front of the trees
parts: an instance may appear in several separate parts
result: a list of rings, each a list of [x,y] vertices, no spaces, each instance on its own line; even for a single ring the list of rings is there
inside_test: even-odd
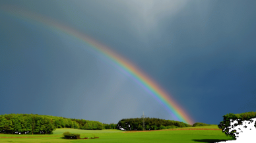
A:
[[[184,129],[184,128],[183,128]],[[216,125],[208,127],[193,127],[187,129],[218,129]],[[97,139],[65,140],[61,138],[63,132],[80,134],[81,138],[98,136]],[[36,138],[1,138],[1,137],[36,137]],[[38,137],[45,136],[45,137]],[[53,134],[46,135],[21,135],[0,134],[0,142],[220,142],[232,140],[221,130],[158,130],[150,132],[125,132],[123,130],[78,130],[57,129]]]

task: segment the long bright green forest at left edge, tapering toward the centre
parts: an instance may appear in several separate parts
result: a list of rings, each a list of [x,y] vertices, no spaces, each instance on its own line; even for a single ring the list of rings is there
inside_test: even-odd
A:
[[[7,134],[52,134],[58,128],[102,130],[98,121],[68,119],[49,115],[5,114],[0,115],[0,133]]]

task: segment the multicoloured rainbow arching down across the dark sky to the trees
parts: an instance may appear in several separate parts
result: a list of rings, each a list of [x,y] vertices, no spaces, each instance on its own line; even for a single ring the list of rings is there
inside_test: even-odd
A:
[[[10,16],[14,16],[15,18],[21,18],[22,20],[43,24],[48,28],[53,28],[54,30],[64,32],[65,34],[68,34],[69,36],[72,36],[81,42],[87,43],[97,53],[101,53],[110,59],[110,61],[112,61],[115,65],[120,67],[123,71],[127,72],[129,76],[131,76],[136,82],[143,86],[143,88],[150,95],[158,100],[164,106],[164,108],[168,110],[172,117],[178,121],[182,121],[190,125],[194,123],[191,117],[185,113],[184,109],[182,109],[182,107],[177,104],[177,101],[174,101],[174,99],[172,99],[170,95],[167,94],[167,92],[165,92],[156,82],[154,82],[154,80],[147,76],[146,73],[141,71],[138,67],[135,67],[133,63],[124,57],[121,57],[106,45],[103,45],[102,43],[90,38],[86,34],[83,34],[70,26],[65,26],[65,24],[40,14],[31,13],[25,11],[24,9],[9,7],[7,5],[0,7],[0,10],[6,14],[9,14]]]

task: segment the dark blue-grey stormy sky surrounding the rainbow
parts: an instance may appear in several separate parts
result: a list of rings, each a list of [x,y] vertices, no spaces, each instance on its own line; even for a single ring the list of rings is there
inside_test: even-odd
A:
[[[117,123],[174,119],[90,45],[5,9],[65,24],[156,81],[195,122],[256,111],[256,1],[0,1],[0,114]]]

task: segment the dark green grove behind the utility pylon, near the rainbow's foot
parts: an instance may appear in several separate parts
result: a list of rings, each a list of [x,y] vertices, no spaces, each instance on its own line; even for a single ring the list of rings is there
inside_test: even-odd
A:
[[[189,124],[157,118],[144,118],[146,130],[173,129],[177,127],[192,127]],[[143,130],[143,120],[141,118],[121,119],[117,123],[117,129],[121,130]]]

